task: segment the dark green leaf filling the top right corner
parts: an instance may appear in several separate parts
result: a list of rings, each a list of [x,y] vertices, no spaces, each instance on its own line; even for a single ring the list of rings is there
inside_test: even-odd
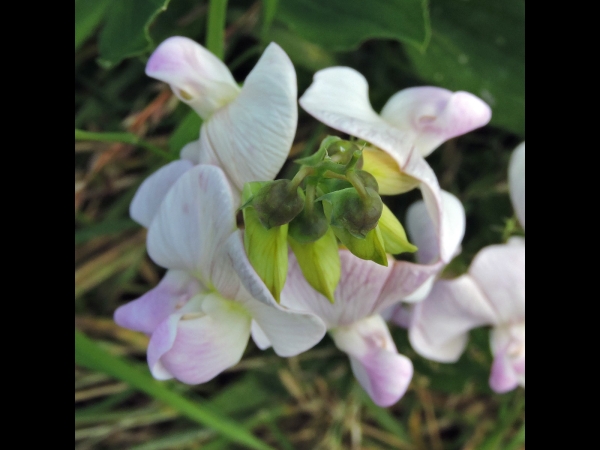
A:
[[[491,123],[525,132],[525,3],[436,0],[425,53],[407,48],[428,82],[471,92],[492,107]]]

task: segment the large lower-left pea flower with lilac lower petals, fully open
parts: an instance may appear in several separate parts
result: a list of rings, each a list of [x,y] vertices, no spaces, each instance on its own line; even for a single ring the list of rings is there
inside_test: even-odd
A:
[[[212,379],[241,359],[252,323],[281,356],[305,351],[325,334],[314,314],[278,305],[254,272],[218,167],[198,165],[175,181],[147,244],[150,257],[168,271],[157,287],[118,308],[115,321],[151,335],[148,364],[155,378]]]

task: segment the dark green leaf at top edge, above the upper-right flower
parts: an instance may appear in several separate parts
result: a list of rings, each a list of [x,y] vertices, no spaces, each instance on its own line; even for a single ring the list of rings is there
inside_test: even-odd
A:
[[[371,38],[422,50],[430,34],[427,0],[296,0],[281,2],[276,18],[329,50],[351,50]]]

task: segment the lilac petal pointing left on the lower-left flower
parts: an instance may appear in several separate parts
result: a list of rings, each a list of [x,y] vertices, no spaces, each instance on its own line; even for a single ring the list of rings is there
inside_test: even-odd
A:
[[[168,270],[154,289],[117,308],[114,319],[119,326],[151,334],[200,292],[204,292],[204,288],[188,273]]]

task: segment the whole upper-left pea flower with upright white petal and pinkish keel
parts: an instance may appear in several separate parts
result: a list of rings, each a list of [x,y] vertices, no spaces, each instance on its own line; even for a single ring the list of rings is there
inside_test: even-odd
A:
[[[265,49],[242,88],[219,58],[180,36],[157,47],[146,74],[168,83],[204,122],[199,140],[182,149],[180,160],[142,183],[130,206],[134,220],[149,227],[169,188],[196,164],[221,167],[236,203],[244,183],[275,178],[298,120],[296,72],[281,47]]]

